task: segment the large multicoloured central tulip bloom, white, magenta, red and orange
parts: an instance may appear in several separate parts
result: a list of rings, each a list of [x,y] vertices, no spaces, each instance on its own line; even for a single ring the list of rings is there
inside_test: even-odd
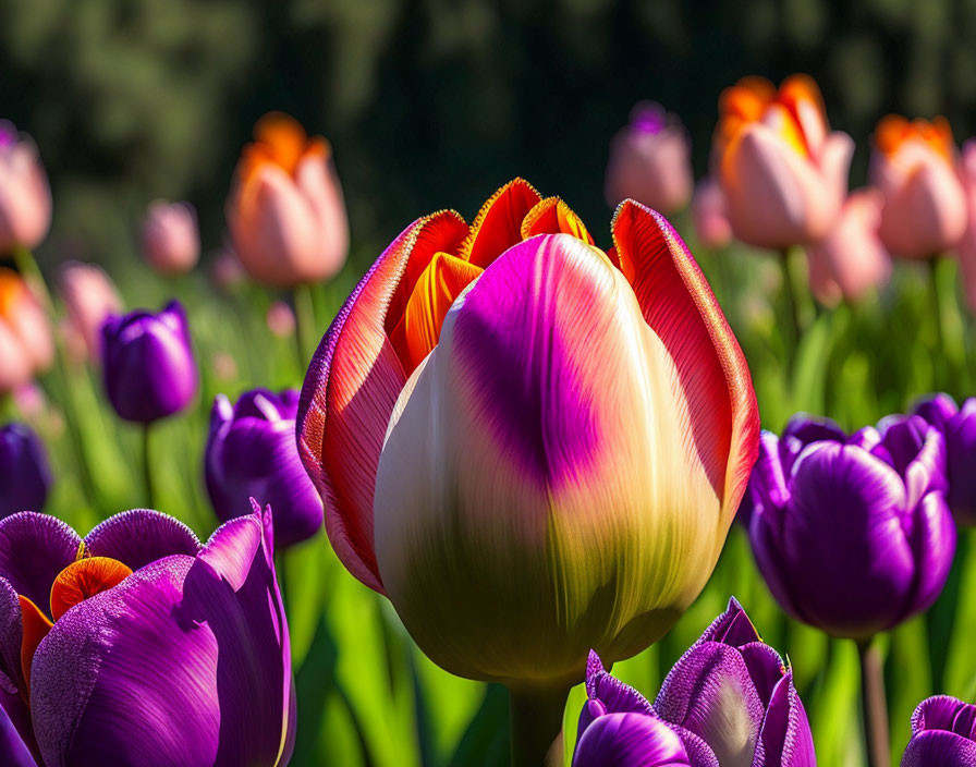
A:
[[[521,180],[472,227],[419,219],[313,358],[298,447],[333,547],[453,673],[561,684],[643,649],[742,497],[742,352],[663,218],[625,202],[612,230],[605,253]]]

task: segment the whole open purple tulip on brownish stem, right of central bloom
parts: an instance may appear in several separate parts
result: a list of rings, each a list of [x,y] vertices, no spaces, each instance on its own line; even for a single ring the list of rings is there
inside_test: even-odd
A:
[[[749,537],[783,609],[851,638],[927,609],[955,552],[944,473],[942,436],[917,416],[850,438],[808,416],[764,433]]]

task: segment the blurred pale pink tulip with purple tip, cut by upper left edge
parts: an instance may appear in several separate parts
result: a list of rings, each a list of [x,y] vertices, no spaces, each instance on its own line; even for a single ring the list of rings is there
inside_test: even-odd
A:
[[[37,247],[50,226],[51,191],[37,147],[0,120],[0,254]]]

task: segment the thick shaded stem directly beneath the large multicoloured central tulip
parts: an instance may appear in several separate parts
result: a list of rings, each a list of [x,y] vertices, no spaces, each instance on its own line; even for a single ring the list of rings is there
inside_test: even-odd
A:
[[[562,717],[569,686],[509,689],[512,767],[562,765]]]

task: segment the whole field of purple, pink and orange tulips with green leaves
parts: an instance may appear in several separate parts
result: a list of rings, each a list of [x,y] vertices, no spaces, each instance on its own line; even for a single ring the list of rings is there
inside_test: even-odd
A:
[[[0,121],[0,766],[976,767],[976,139],[639,96],[602,217],[270,111],[103,261]]]

